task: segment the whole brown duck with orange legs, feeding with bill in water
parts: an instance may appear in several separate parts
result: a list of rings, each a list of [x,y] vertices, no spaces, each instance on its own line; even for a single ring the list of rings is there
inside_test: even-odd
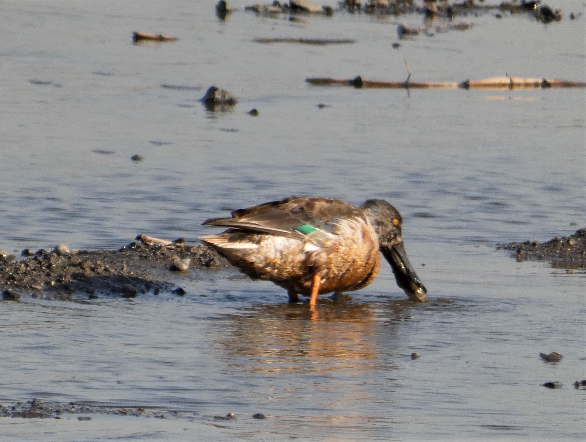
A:
[[[231,215],[203,222],[228,230],[200,240],[251,278],[285,288],[291,302],[303,294],[313,306],[319,294],[366,287],[379,273],[381,253],[397,285],[411,300],[425,301],[427,290],[403,247],[401,215],[385,200],[357,208],[339,199],[291,196]]]

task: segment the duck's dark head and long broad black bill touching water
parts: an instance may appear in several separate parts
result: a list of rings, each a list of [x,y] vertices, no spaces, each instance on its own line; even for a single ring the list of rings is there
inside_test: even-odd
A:
[[[380,251],[393,269],[397,285],[411,301],[424,302],[427,289],[407,259],[401,236],[401,214],[384,199],[369,199],[360,208],[379,237]]]

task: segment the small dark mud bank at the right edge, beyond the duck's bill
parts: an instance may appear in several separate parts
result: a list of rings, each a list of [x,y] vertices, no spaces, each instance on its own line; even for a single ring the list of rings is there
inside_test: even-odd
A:
[[[517,261],[551,261],[555,268],[586,268],[586,229],[578,229],[570,236],[540,243],[537,241],[497,244],[497,249],[513,250]]]

